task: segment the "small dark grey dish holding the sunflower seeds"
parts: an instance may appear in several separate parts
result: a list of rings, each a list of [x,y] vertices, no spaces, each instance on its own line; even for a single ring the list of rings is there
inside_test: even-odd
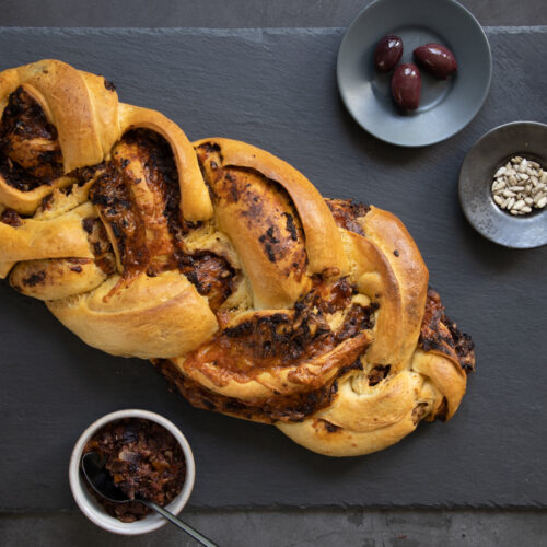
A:
[[[467,220],[488,240],[512,248],[547,244],[547,208],[512,217],[493,201],[493,174],[513,155],[547,167],[547,125],[514,121],[481,137],[467,153],[459,172],[459,202]]]

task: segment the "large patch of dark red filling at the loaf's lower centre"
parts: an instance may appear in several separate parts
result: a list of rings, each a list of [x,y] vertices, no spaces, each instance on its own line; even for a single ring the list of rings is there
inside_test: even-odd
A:
[[[230,379],[245,382],[274,368],[311,362],[354,338],[357,344],[330,359],[330,366],[350,364],[366,348],[369,339],[359,336],[373,327],[377,310],[376,304],[352,303],[353,292],[347,278],[334,283],[317,280],[314,289],[295,302],[294,310],[258,312],[223,328],[189,352],[185,366],[201,371],[219,385]],[[344,318],[331,328],[327,315],[336,312],[344,313]],[[222,316],[220,319],[222,323]],[[307,383],[302,377],[291,380]]]

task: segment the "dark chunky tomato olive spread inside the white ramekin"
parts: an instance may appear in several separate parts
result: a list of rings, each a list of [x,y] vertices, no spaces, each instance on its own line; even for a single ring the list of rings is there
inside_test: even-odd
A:
[[[181,492],[186,463],[181,445],[165,428],[150,420],[125,418],[100,429],[83,449],[105,458],[114,484],[130,499],[166,505]],[[135,522],[151,512],[144,504],[115,503],[90,492],[105,511],[121,522]]]

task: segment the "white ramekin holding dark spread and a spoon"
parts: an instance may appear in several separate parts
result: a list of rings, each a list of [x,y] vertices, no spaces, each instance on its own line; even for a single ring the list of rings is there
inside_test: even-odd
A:
[[[80,459],[82,458],[82,451],[85,446],[85,443],[103,426],[110,421],[120,420],[121,418],[142,418],[146,420],[155,421],[160,426],[163,426],[167,431],[171,431],[171,433],[173,433],[173,437],[178,441],[186,461],[186,478],[181,493],[168,505],[165,507],[165,509],[167,511],[171,511],[173,514],[179,513],[186,505],[186,502],[190,497],[191,489],[194,488],[196,468],[191,449],[181,430],[173,422],[155,412],[149,412],[148,410],[139,409],[118,410],[117,412],[107,414],[106,416],[103,416],[98,420],[94,421],[82,433],[74,445],[69,464],[69,480],[72,496],[74,497],[78,507],[82,510],[82,513],[97,526],[101,526],[108,532],[114,532],[115,534],[132,536],[158,529],[167,521],[163,516],[160,516],[158,513],[151,513],[140,521],[129,523],[118,521],[114,516],[110,516],[108,513],[106,513],[103,507],[89,492],[82,477],[80,476]]]

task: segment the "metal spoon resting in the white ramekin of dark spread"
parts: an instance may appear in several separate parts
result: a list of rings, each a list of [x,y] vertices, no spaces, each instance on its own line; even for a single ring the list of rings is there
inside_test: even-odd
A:
[[[162,516],[167,519],[171,523],[179,528],[184,529],[188,535],[194,537],[197,542],[206,547],[218,547],[217,544],[212,543],[210,539],[201,535],[197,529],[194,529],[188,524],[185,524],[183,521],[179,521],[173,513],[170,513],[158,503],[153,501],[144,500],[142,498],[135,498],[135,500],[130,500],[120,488],[118,488],[114,480],[105,467],[106,459],[101,458],[98,454],[95,452],[88,452],[82,456],[80,462],[80,468],[85,476],[88,484],[103,498],[108,501],[113,501],[114,503],[128,503],[130,501],[138,501],[139,503],[143,503],[150,509],[153,509],[155,512],[160,513]]]

